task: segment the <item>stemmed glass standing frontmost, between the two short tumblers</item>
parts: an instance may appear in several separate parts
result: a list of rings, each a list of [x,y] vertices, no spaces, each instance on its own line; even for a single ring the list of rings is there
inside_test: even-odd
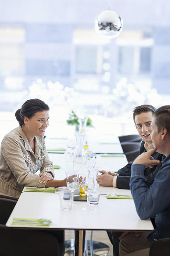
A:
[[[87,195],[87,205],[85,207],[83,207],[82,210],[83,211],[91,211],[91,210],[93,210],[93,208],[91,207],[90,202],[89,202],[89,195],[94,189],[94,178],[90,177],[90,178],[88,178],[88,181],[83,180],[81,186],[82,186],[82,190]]]

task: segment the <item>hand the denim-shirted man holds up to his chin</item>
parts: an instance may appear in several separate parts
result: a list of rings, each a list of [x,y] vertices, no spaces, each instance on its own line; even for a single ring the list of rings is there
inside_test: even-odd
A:
[[[145,168],[153,165],[157,165],[160,163],[159,160],[153,160],[151,158],[151,155],[156,151],[156,148],[150,149],[149,151],[142,153],[137,157],[134,161],[133,164],[143,164]]]

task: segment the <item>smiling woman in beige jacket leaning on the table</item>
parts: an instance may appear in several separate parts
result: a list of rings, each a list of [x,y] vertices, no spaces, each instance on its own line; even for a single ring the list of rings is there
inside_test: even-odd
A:
[[[16,111],[19,127],[6,134],[0,148],[0,194],[19,198],[24,186],[67,186],[66,179],[54,180],[45,148],[48,111],[40,99],[29,99]]]

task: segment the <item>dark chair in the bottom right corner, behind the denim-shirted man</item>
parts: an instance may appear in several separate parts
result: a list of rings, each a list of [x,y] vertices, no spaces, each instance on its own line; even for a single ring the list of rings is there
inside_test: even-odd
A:
[[[159,239],[150,247],[149,256],[170,256],[170,238]]]

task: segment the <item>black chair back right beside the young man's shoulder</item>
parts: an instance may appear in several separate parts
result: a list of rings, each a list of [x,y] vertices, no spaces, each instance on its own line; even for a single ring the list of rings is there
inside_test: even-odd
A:
[[[121,143],[124,154],[126,155],[128,163],[132,163],[136,157],[139,156],[139,149],[141,143],[139,142],[127,142]]]

